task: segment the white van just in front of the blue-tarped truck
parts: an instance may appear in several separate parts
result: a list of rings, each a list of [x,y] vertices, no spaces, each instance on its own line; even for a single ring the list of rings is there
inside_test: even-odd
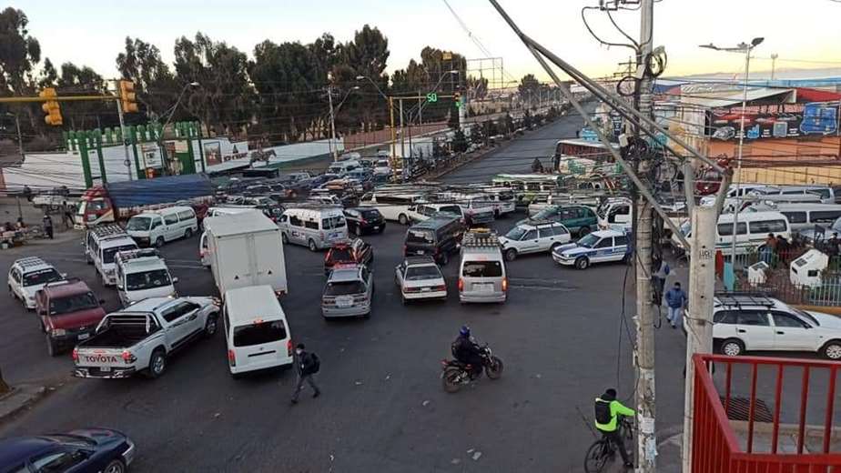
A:
[[[163,247],[167,241],[189,238],[197,233],[198,218],[193,207],[171,206],[132,216],[126,231],[138,245]]]

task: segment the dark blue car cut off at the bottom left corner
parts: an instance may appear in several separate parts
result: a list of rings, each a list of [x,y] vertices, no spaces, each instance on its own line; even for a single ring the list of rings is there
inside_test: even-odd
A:
[[[0,472],[61,471],[123,473],[135,457],[135,444],[110,428],[84,428],[62,434],[0,440]]]

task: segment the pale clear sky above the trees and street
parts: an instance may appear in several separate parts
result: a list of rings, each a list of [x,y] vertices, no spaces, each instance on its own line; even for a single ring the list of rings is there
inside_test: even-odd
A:
[[[484,0],[449,0],[474,37],[494,56],[502,56],[509,77],[536,73],[540,66],[510,28]],[[605,47],[587,33],[584,5],[597,0],[501,0],[522,29],[556,54],[590,75],[609,75],[630,49]],[[424,45],[485,55],[461,28],[443,0],[13,0],[29,17],[29,31],[41,43],[42,55],[54,64],[90,65],[106,77],[117,75],[115,58],[127,35],[157,45],[171,61],[177,37],[197,31],[224,40],[251,54],[253,46],[274,42],[309,42],[329,32],[339,41],[352,38],[364,24],[376,25],[389,38],[391,71],[418,57]],[[639,15],[614,15],[637,37]],[[599,12],[588,15],[604,38],[619,35]],[[740,55],[699,49],[697,45],[735,45],[764,36],[755,51],[756,71],[770,68],[823,67],[841,75],[841,3],[832,0],[662,0],[654,10],[654,45],[669,55],[666,75],[727,72],[743,67]]]

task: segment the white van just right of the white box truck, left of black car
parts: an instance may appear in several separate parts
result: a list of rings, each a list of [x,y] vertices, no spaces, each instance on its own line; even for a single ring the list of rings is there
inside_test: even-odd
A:
[[[296,206],[283,211],[278,221],[283,243],[328,248],[348,239],[348,224],[340,206]]]

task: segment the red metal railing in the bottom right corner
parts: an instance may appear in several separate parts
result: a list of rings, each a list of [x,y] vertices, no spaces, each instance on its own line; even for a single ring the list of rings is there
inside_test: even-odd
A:
[[[836,377],[841,363],[772,357],[725,357],[720,355],[695,355],[694,378],[694,426],[693,426],[693,473],[839,473],[841,472],[841,452],[831,451],[833,439],[833,417],[836,397]],[[714,365],[714,366],[713,366]],[[720,392],[715,385],[710,367],[718,373],[718,380],[724,384]],[[724,367],[724,379],[721,379]],[[748,373],[742,373],[749,370]],[[735,374],[734,371],[739,373]],[[771,376],[760,377],[760,371]],[[795,375],[785,377],[785,375]],[[735,375],[735,376],[734,376]],[[746,376],[745,376],[746,375]],[[796,379],[799,375],[799,380]],[[826,377],[824,376],[826,375]],[[762,378],[762,379],[760,379]],[[766,379],[767,378],[767,379]],[[757,391],[757,384],[762,380],[773,389]],[[785,383],[785,380],[793,381]],[[792,385],[799,384],[799,398]],[[826,384],[826,386],[824,386]],[[738,386],[736,386],[738,385]],[[785,388],[784,388],[785,387]],[[735,395],[736,391],[749,392],[746,398]],[[759,395],[773,391],[773,413]],[[821,436],[809,434],[817,430],[807,426],[810,397],[826,394],[826,400],[815,405],[811,418],[822,418]],[[791,409],[784,409],[785,400],[795,398],[797,402],[788,402]],[[823,411],[821,412],[821,408]],[[815,412],[815,409],[818,412]],[[759,415],[759,411],[763,415]],[[796,411],[796,415],[794,412]],[[771,442],[768,451],[760,452],[757,437],[768,430],[770,416]],[[781,422],[781,419],[792,422]],[[745,447],[740,445],[734,423],[746,420]],[[794,422],[795,421],[795,422]],[[757,427],[761,429],[757,431]],[[814,424],[813,424],[814,426]],[[781,428],[789,431],[781,432]],[[744,432],[743,432],[744,434]],[[793,438],[796,452],[781,451],[780,437]],[[820,448],[807,446],[807,437],[822,437]],[[790,448],[788,448],[790,450]]]

